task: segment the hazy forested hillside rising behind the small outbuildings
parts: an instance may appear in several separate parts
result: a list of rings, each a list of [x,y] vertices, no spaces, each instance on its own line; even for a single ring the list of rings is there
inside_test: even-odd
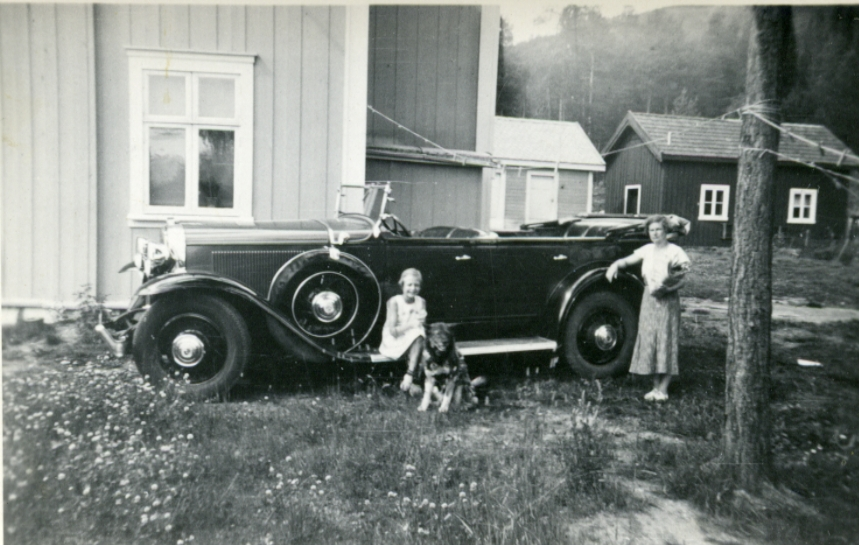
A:
[[[564,9],[558,34],[511,45],[502,21],[499,115],[578,121],[601,148],[627,111],[718,117],[743,104],[750,10],[678,7],[607,19]],[[859,150],[859,6],[795,7],[784,121]]]

